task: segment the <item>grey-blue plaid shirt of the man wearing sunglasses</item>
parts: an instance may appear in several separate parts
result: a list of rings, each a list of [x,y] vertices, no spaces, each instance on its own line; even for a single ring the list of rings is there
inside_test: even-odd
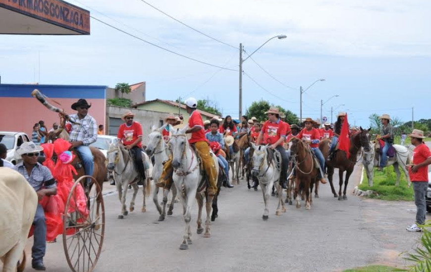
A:
[[[27,169],[24,167],[24,163],[15,165],[13,169],[18,171],[19,174],[23,175],[28,183],[30,183],[30,185],[35,189],[35,191],[39,191],[42,189],[42,187],[49,189],[57,186],[57,182],[54,180],[51,171],[48,169],[48,167],[43,166],[40,163],[37,163],[33,167],[30,177],[28,176]]]

